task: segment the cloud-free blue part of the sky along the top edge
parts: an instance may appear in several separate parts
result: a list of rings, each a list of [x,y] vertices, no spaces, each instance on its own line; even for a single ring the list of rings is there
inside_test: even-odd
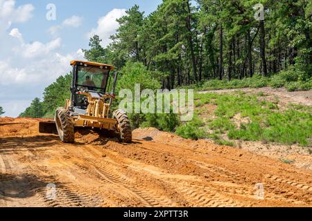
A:
[[[76,48],[87,48],[88,41],[86,41],[85,33],[89,32],[91,28],[96,26],[96,22],[100,17],[103,17],[108,12],[114,8],[124,8],[128,9],[137,4],[140,6],[141,10],[146,12],[148,15],[153,10],[156,10],[157,5],[161,3],[159,0],[66,0],[66,1],[27,1],[27,0],[17,0],[18,5],[23,5],[27,3],[33,4],[35,7],[33,18],[27,23],[19,23],[16,25],[20,32],[24,33],[24,39],[28,42],[40,40],[40,41],[50,41],[52,39],[49,35],[49,27],[58,25],[62,23],[65,19],[76,15],[78,17],[83,17],[82,25],[79,28],[71,28],[68,30],[62,30],[62,39],[64,40],[64,47],[61,48],[60,52],[69,52],[71,50],[76,50]],[[46,20],[46,5],[49,3],[54,3],[56,6],[56,20],[48,21]],[[38,28],[40,27],[40,28]]]

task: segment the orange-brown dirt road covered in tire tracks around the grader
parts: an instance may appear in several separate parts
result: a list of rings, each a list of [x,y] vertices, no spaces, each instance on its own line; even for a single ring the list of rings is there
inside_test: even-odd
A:
[[[308,169],[153,128],[62,144],[39,121],[0,118],[0,206],[312,206]]]

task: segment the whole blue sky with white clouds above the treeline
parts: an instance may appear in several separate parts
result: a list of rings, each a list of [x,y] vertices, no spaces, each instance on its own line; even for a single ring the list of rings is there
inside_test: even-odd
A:
[[[70,70],[71,59],[83,59],[89,36],[110,43],[116,18],[137,4],[148,15],[161,0],[27,1],[0,0],[0,106],[17,117],[46,86]],[[55,21],[46,6],[56,8]]]

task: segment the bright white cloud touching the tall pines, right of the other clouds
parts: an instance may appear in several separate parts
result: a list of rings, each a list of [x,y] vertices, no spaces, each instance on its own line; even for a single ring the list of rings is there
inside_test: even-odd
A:
[[[107,46],[112,41],[110,36],[114,35],[116,29],[119,27],[119,23],[116,19],[119,19],[124,15],[126,15],[125,9],[114,8],[105,16],[98,19],[98,26],[92,28],[91,32],[87,33],[87,37],[90,38],[94,35],[98,35],[102,39],[102,46]]]

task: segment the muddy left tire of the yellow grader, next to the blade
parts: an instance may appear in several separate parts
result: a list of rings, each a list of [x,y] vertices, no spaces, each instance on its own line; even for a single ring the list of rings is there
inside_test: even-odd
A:
[[[55,111],[55,124],[60,140],[64,143],[75,142],[75,132],[71,117],[65,108],[57,108]]]

